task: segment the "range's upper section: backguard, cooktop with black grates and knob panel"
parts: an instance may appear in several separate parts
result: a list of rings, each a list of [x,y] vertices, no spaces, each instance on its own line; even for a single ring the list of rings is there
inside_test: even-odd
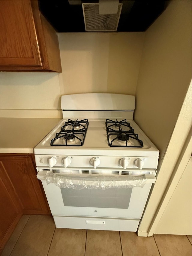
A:
[[[36,164],[65,168],[89,168],[93,163],[94,168],[142,168],[144,164],[143,168],[156,168],[159,150],[134,122],[134,106],[131,95],[62,96],[63,119],[35,146]]]

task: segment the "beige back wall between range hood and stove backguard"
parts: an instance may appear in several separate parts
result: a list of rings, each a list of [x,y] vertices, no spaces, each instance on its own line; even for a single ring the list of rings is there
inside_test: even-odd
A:
[[[60,33],[62,94],[135,95],[144,33]]]

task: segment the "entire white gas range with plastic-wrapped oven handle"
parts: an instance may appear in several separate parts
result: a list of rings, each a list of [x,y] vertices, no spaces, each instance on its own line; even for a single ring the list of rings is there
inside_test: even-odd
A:
[[[63,119],[34,148],[56,227],[137,230],[159,151],[134,107],[131,95],[61,97]]]

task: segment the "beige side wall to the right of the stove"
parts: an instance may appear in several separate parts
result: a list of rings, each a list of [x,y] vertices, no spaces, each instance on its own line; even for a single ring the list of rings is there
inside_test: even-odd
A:
[[[135,94],[134,119],[160,150],[161,160],[190,80],[191,1],[171,1],[146,31]]]

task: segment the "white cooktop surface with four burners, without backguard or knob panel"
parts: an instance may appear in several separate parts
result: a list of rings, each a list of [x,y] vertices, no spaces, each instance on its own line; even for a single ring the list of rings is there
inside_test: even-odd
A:
[[[83,123],[85,128],[67,125],[61,120],[34,148],[35,154],[130,155],[158,156],[159,151],[134,120],[126,120],[129,127],[108,127],[108,121],[98,119]],[[72,119],[71,119],[72,120]],[[75,120],[75,121],[74,121]],[[76,124],[77,119],[73,119]],[[80,119],[79,119],[80,120]],[[107,119],[108,120],[108,119]],[[117,122],[120,124],[121,122]],[[110,126],[110,125],[109,125]],[[125,128],[126,127],[126,128]],[[115,130],[116,129],[116,130]],[[131,130],[131,131],[130,131]],[[73,137],[74,136],[74,137]],[[79,136],[79,138],[77,138]],[[124,139],[125,136],[125,139]],[[127,144],[127,146],[126,146]],[[112,146],[110,146],[112,145]]]

